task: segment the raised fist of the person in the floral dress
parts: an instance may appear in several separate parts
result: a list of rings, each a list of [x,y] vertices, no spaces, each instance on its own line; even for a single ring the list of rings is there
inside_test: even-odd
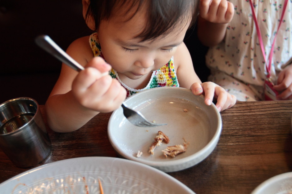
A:
[[[234,14],[234,6],[227,0],[200,0],[200,16],[212,23],[229,23]]]

